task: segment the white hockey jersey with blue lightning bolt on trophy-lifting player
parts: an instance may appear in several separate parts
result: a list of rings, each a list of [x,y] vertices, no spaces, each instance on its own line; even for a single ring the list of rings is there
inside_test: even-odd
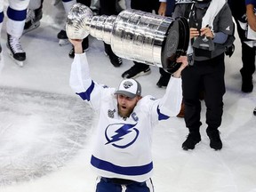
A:
[[[153,170],[152,128],[180,112],[181,79],[171,78],[162,99],[144,96],[126,119],[118,115],[116,89],[91,79],[85,53],[76,54],[69,84],[99,115],[92,168],[102,177],[148,180]]]

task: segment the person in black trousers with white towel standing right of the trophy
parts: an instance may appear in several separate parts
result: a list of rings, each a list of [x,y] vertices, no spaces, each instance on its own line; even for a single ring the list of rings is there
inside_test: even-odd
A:
[[[201,141],[200,92],[204,89],[206,133],[210,147],[222,148],[219,127],[223,114],[223,95],[226,92],[225,50],[233,44],[234,24],[226,0],[179,1],[173,17],[185,17],[190,27],[188,45],[189,66],[182,71],[182,91],[185,104],[185,123],[188,137],[184,150],[194,149]],[[230,40],[231,39],[231,40]]]

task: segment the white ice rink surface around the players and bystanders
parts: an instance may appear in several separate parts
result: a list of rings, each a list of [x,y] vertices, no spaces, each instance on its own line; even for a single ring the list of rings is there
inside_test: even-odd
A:
[[[7,1],[5,1],[7,2]],[[6,4],[6,3],[4,3]],[[93,192],[96,175],[90,169],[92,110],[68,85],[71,45],[59,46],[64,23],[61,4],[44,1],[41,26],[22,36],[27,52],[23,68],[6,51],[5,23],[0,63],[0,192]],[[5,17],[6,19],[6,17]],[[102,42],[90,36],[87,52],[92,77],[117,86],[132,61],[114,68]],[[256,88],[240,92],[241,46],[226,58],[224,114],[220,126],[223,148],[209,147],[202,101],[202,141],[192,151],[182,142],[188,129],[182,118],[159,124],[153,137],[156,192],[256,192]],[[161,97],[158,68],[138,78],[142,94]],[[256,76],[254,74],[254,86]]]

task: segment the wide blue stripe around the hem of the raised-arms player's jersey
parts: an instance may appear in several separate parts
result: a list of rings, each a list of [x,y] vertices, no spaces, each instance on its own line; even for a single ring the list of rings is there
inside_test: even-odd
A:
[[[150,164],[145,164],[141,166],[123,167],[123,166],[118,166],[116,164],[111,164],[110,162],[107,162],[107,161],[100,160],[95,156],[92,156],[91,164],[100,170],[115,172],[117,174],[123,174],[123,175],[131,175],[131,176],[143,175],[150,172],[153,169],[152,162]]]

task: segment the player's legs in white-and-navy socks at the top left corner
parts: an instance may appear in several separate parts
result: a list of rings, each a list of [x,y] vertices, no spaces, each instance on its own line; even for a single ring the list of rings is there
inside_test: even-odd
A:
[[[7,8],[6,31],[7,31],[7,48],[10,56],[20,67],[26,60],[26,52],[21,47],[20,36],[22,35],[25,25],[27,8],[29,0],[17,1],[9,0]],[[4,0],[0,0],[0,29],[4,19]],[[2,49],[1,49],[2,50]]]

